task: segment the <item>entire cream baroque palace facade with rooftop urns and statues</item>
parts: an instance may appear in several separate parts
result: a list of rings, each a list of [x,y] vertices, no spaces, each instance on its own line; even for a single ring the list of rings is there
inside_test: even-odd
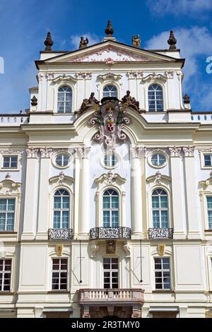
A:
[[[1,114],[1,317],[212,313],[212,114],[167,49],[106,37],[40,52],[30,109]]]

